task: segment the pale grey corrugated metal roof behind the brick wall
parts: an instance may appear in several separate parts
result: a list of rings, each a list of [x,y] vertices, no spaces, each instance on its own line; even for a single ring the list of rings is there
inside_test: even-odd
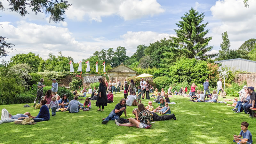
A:
[[[230,67],[232,71],[241,70],[246,72],[256,72],[256,61],[245,60],[245,59],[231,59],[231,60],[220,60],[214,63],[220,63],[221,67]]]

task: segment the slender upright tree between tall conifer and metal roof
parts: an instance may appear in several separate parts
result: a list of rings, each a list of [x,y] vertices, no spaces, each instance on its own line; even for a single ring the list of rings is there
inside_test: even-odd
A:
[[[230,41],[228,39],[227,31],[221,34],[222,43],[220,44],[221,50],[219,50],[219,58],[218,60],[228,60],[229,55],[229,48],[230,48]]]

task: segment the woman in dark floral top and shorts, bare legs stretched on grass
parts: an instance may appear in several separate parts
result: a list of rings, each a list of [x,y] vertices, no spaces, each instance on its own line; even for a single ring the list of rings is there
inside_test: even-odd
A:
[[[137,128],[150,128],[151,127],[151,113],[145,108],[142,103],[138,104],[139,115],[138,119],[129,118],[129,122],[127,124],[119,124],[116,120],[117,126],[136,126]]]

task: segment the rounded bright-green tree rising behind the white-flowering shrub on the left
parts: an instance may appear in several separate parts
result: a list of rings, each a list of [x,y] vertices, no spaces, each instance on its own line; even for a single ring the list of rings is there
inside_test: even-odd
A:
[[[16,56],[13,56],[11,58],[10,65],[14,66],[16,64],[22,64],[26,63],[32,67],[32,71],[37,71],[39,67],[39,63],[42,60],[41,57],[39,57],[39,54],[36,55],[35,53],[29,52],[28,54],[16,54]]]

